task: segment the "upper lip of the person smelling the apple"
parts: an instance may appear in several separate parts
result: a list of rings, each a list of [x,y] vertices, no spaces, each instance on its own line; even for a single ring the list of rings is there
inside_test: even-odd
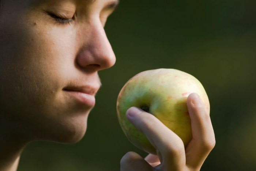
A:
[[[63,90],[65,91],[78,91],[78,92],[82,92],[85,94],[90,94],[90,95],[94,95],[97,93],[97,91],[99,90],[100,86],[90,86],[90,85],[86,85],[86,86],[67,86],[64,87]]]

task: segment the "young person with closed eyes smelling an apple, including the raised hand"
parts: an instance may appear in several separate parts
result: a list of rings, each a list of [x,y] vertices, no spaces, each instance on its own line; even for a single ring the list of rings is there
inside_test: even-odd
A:
[[[98,71],[116,57],[104,26],[117,0],[1,0],[0,170],[17,170],[35,140],[74,144],[101,87]],[[215,146],[210,110],[197,94],[187,99],[193,138],[181,139],[153,115],[131,107],[128,119],[157,148],[145,159],[135,152],[122,171],[200,170]]]

